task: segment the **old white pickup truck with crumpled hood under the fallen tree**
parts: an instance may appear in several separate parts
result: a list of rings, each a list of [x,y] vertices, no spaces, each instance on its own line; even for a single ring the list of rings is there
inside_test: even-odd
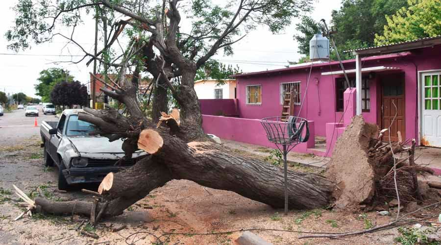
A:
[[[89,135],[95,126],[78,120],[78,112],[82,111],[67,109],[58,122],[41,123],[45,165],[58,167],[60,190],[72,189],[73,184],[100,182],[107,173],[134,165],[139,157],[147,155],[147,152],[138,150],[131,159],[114,166],[124,156],[123,141],[109,142],[105,137]]]

